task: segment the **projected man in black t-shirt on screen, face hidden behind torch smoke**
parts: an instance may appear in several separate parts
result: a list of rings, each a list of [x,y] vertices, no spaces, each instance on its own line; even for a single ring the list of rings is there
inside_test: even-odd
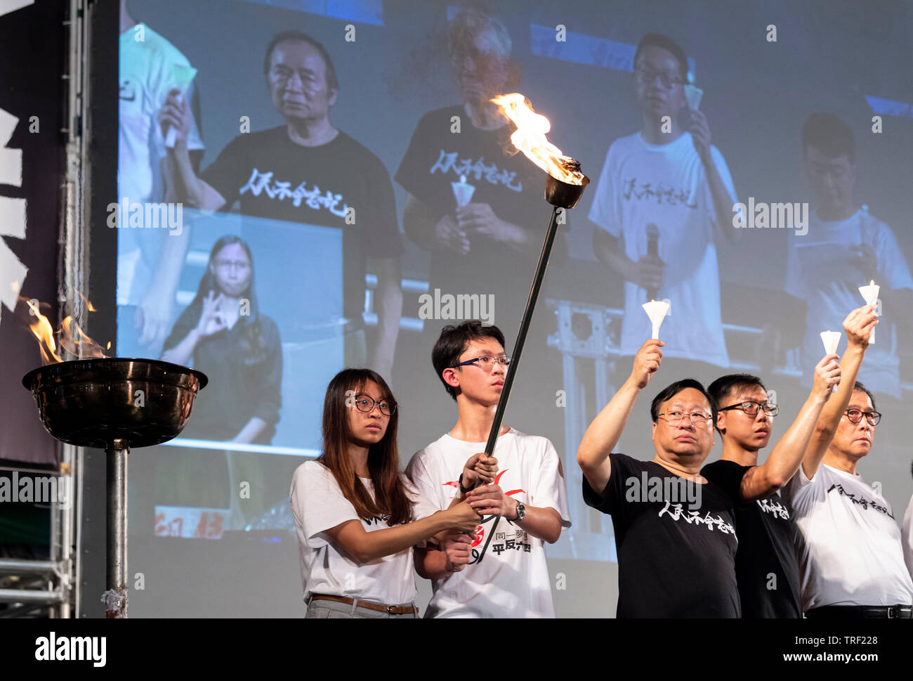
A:
[[[546,175],[523,154],[506,153],[514,126],[489,101],[519,86],[507,30],[464,10],[447,37],[463,102],[426,113],[415,128],[395,176],[409,193],[403,227],[431,253],[429,292],[492,295],[494,314],[482,321],[511,335],[548,221]],[[559,233],[551,261],[566,248]],[[429,331],[437,326],[426,323]]]

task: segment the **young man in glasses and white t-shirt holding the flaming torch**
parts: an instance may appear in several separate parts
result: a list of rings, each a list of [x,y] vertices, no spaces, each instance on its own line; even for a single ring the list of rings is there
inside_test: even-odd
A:
[[[440,508],[465,495],[485,517],[475,537],[415,549],[416,571],[433,580],[425,617],[554,617],[545,543],[571,527],[558,453],[546,438],[501,426],[495,483],[474,489],[475,474],[464,466],[485,449],[494,422],[510,361],[504,335],[477,321],[446,326],[432,359],[458,417],[453,430],[415,453],[406,473]]]

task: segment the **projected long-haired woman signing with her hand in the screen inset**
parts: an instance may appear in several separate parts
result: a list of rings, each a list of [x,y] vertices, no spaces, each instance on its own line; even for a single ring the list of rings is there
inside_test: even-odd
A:
[[[271,442],[281,405],[282,347],[276,323],[259,312],[254,261],[244,240],[227,235],[215,242],[196,296],[174,324],[163,347],[163,360],[184,366],[190,366],[192,361],[194,368],[209,377],[209,387],[214,388],[205,399],[194,402],[193,418],[184,429],[185,438]],[[182,470],[191,466],[206,476],[205,484],[191,484],[192,505],[226,504],[226,486],[215,484],[213,468],[206,465],[207,459],[208,463],[215,463],[211,461],[214,455],[221,457],[222,451],[197,452],[194,461],[182,456]],[[245,509],[246,516],[262,512],[276,501],[263,491],[263,456],[229,453],[229,474],[233,479],[227,485],[231,490],[227,501],[237,505],[237,481],[247,481],[251,507]],[[175,486],[190,484],[188,476],[176,477]],[[208,498],[215,497],[214,491],[222,499]]]

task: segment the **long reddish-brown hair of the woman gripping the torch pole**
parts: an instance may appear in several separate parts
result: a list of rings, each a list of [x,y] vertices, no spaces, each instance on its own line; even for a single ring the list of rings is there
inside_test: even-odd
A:
[[[393,393],[380,374],[371,369],[342,369],[330,381],[323,400],[323,453],[318,461],[330,469],[342,495],[355,506],[359,517],[367,520],[389,516],[387,525],[401,525],[412,519],[412,500],[399,473],[396,452],[398,410],[390,415],[381,442],[372,444],[368,450],[368,471],[374,484],[373,501],[349,459],[349,444],[352,442],[349,410],[354,407],[348,404],[352,404],[352,397],[362,392],[368,381],[381,388],[382,399],[395,404]]]

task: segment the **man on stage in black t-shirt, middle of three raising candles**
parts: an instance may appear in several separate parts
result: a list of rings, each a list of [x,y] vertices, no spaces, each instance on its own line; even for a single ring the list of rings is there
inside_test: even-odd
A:
[[[795,521],[788,500],[779,490],[799,470],[824,403],[832,386],[840,381],[837,359],[836,355],[826,355],[814,367],[811,394],[761,465],[758,452],[771,439],[773,417],[779,409],[768,399],[761,378],[729,374],[708,388],[717,404],[723,454],[719,461],[704,466],[700,474],[740,500],[735,509],[739,532],[736,577],[742,617],[802,617]]]

